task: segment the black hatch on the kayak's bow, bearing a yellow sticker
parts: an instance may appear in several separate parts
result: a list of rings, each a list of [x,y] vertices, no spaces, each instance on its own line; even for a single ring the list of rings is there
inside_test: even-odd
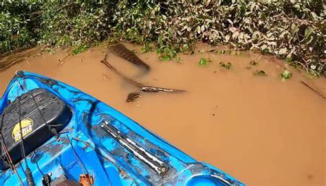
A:
[[[71,117],[72,111],[67,104],[45,89],[33,89],[16,98],[8,104],[0,117],[0,130],[3,136],[0,138],[0,169],[6,170],[10,167],[3,141],[12,162],[18,163],[23,159],[21,133],[27,156],[63,130]]]

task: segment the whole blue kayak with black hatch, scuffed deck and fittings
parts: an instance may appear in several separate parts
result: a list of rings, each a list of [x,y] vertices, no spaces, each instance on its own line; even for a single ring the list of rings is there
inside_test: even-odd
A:
[[[243,185],[42,75],[17,71],[0,113],[0,185]]]

